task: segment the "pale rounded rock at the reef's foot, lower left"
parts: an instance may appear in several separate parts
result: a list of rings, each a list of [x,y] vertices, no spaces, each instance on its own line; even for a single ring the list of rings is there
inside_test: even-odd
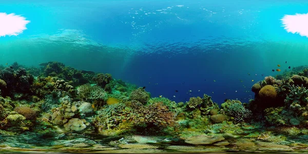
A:
[[[83,131],[87,128],[86,124],[87,121],[84,119],[73,118],[64,124],[64,128],[66,131]]]

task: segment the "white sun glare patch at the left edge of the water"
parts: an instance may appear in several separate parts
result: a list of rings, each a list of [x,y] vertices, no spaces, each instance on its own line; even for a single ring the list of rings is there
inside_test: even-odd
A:
[[[26,18],[20,15],[15,15],[14,13],[6,14],[0,12],[0,37],[1,36],[16,36],[23,33],[26,25],[30,21],[26,21]]]

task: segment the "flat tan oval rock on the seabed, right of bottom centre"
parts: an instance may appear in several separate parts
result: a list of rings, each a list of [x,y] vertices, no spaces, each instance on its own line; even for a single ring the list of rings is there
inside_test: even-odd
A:
[[[199,136],[189,137],[185,140],[185,142],[189,144],[204,145],[204,144],[212,144],[215,142],[223,141],[224,139],[225,138],[223,138],[220,134],[215,134],[212,136],[207,136],[202,134]]]

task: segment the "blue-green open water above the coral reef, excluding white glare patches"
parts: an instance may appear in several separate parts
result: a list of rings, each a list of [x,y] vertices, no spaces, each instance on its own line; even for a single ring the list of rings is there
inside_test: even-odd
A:
[[[248,102],[264,76],[306,65],[308,38],[287,33],[280,19],[307,8],[286,0],[0,2],[0,12],[31,21],[22,34],[0,37],[0,62],[59,61],[176,102],[203,93],[218,104]]]

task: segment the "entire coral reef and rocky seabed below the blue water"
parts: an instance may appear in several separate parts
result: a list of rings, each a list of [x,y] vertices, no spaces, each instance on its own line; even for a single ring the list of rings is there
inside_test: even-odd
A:
[[[255,99],[152,98],[60,62],[0,66],[0,152],[308,152],[308,67],[252,86]]]

